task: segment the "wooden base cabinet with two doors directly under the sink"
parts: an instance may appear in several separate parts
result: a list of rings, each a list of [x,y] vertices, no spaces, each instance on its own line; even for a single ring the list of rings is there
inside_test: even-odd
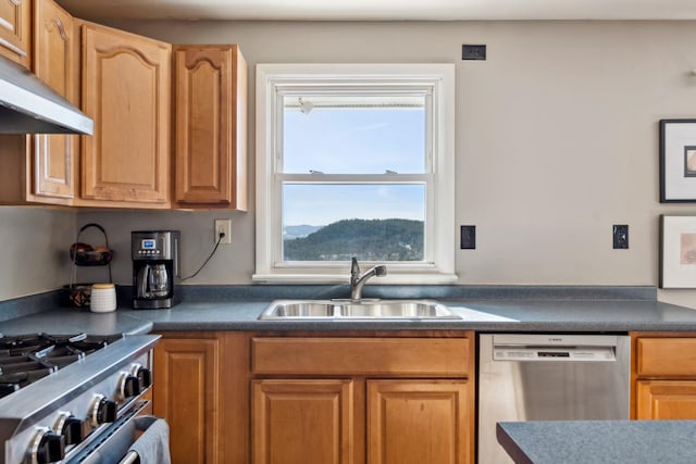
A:
[[[470,333],[254,337],[251,462],[472,463],[473,352]]]

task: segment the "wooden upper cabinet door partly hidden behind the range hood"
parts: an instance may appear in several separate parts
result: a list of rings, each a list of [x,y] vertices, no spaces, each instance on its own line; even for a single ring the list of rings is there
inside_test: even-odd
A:
[[[34,73],[77,105],[73,17],[52,0],[34,2]],[[75,196],[75,163],[79,137],[34,136],[33,193],[39,197]]]

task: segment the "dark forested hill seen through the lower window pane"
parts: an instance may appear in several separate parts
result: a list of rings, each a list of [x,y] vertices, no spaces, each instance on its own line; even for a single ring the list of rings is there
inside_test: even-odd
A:
[[[303,227],[303,226],[296,226]],[[311,227],[311,226],[306,226]],[[421,261],[423,222],[344,220],[283,241],[286,261]]]

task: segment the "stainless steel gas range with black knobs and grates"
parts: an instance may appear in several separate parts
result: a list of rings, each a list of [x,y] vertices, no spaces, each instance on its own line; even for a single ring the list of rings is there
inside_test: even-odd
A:
[[[158,339],[0,336],[0,464],[139,459],[128,450],[149,411],[144,397]]]

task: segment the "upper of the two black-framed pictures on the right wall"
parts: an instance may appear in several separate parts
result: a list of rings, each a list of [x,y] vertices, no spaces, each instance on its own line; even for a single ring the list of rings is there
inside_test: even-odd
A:
[[[696,120],[660,120],[660,202],[696,202]]]

